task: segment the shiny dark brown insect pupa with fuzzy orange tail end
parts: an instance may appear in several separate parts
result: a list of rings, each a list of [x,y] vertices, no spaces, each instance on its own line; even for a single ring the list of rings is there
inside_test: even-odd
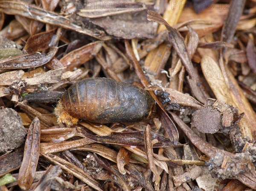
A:
[[[110,78],[86,78],[70,86],[55,108],[58,123],[70,127],[79,119],[93,123],[137,122],[156,114],[148,91]]]

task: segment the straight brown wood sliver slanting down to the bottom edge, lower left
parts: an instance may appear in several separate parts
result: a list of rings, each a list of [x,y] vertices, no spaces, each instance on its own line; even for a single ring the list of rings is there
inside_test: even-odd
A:
[[[56,165],[60,165],[62,170],[66,171],[67,173],[73,174],[75,177],[82,180],[83,182],[85,182],[87,185],[94,188],[95,190],[103,191],[99,182],[97,182],[93,177],[91,177],[89,174],[84,172],[83,169],[78,168],[76,165],[73,165],[72,163],[58,156],[54,156],[52,154],[48,154],[48,155],[42,154],[42,155],[48,160],[50,160],[51,162],[55,163]]]

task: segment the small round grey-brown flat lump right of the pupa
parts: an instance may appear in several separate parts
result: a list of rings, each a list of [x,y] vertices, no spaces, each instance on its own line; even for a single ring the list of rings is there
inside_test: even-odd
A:
[[[201,108],[192,114],[191,125],[202,133],[216,133],[221,128],[221,113],[215,108]]]

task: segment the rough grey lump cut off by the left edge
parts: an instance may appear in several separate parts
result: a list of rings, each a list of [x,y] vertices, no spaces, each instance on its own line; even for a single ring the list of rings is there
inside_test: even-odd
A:
[[[26,134],[19,114],[12,108],[0,107],[0,153],[18,148]]]

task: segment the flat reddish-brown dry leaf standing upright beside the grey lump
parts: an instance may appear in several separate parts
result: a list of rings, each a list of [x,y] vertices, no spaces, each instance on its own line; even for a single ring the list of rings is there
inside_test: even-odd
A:
[[[39,158],[40,121],[38,117],[29,126],[25,143],[24,157],[19,170],[18,185],[28,190],[33,183]],[[25,175],[25,176],[24,176]]]

